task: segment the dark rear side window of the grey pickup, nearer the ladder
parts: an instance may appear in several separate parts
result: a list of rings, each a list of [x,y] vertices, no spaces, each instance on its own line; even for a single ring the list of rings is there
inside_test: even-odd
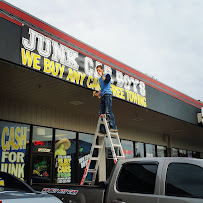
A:
[[[157,168],[157,163],[124,164],[117,182],[118,191],[154,194]]]

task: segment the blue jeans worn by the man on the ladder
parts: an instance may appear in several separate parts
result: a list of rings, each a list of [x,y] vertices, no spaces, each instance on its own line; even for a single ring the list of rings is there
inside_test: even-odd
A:
[[[111,106],[112,106],[112,95],[111,94],[103,95],[101,97],[99,114],[107,114],[109,116],[110,129],[117,129],[116,124],[115,124],[114,115],[113,115],[113,112],[111,110]],[[100,131],[102,133],[105,132],[104,124],[101,124]]]

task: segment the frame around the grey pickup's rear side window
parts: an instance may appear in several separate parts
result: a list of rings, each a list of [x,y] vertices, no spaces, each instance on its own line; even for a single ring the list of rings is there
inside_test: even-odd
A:
[[[119,177],[121,175],[121,171],[122,171],[122,168],[123,166],[125,165],[128,165],[128,164],[138,164],[138,165],[156,165],[157,166],[157,170],[156,170],[156,177],[155,177],[155,183],[154,183],[154,193],[151,194],[151,193],[139,193],[139,192],[130,192],[130,191],[120,191],[119,188],[118,188],[118,180],[119,180]],[[141,195],[156,195],[155,194],[155,191],[156,191],[156,182],[157,182],[157,172],[159,170],[159,162],[158,161],[133,161],[133,162],[126,162],[126,163],[123,163],[119,169],[119,172],[118,172],[118,176],[117,176],[117,180],[116,180],[116,190],[119,192],[119,193],[130,193],[130,194],[141,194]]]

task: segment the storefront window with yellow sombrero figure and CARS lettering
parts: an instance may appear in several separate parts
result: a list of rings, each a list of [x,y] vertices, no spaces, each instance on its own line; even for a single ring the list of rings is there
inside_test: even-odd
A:
[[[56,130],[55,135],[55,183],[76,182],[76,133]]]

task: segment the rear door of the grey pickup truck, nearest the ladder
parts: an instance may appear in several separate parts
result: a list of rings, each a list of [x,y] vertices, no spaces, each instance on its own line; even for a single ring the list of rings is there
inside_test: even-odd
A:
[[[114,172],[117,181],[110,186],[107,202],[157,203],[159,192],[157,173],[159,170],[157,161],[123,163],[119,171]]]

